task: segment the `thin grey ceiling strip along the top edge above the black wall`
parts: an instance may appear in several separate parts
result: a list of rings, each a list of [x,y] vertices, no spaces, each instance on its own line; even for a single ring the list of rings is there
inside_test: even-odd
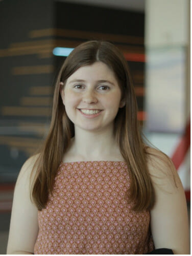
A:
[[[56,0],[56,1],[103,6],[103,7],[110,7],[115,9],[126,9],[131,11],[138,11],[138,12],[145,11],[145,0]]]

